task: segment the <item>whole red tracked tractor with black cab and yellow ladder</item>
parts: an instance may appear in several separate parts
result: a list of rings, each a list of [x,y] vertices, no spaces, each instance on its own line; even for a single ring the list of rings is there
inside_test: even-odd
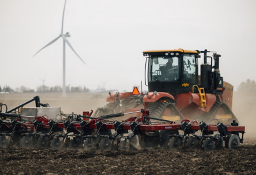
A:
[[[220,75],[221,55],[212,52],[212,56],[207,56],[209,52],[183,49],[144,51],[148,92],[109,93],[109,103],[98,108],[94,117],[143,108],[148,109],[153,118],[176,122],[196,117],[208,122],[211,119],[223,123],[237,121],[231,110],[233,86],[224,82]],[[200,54],[204,54],[204,63],[200,65],[198,75]]]

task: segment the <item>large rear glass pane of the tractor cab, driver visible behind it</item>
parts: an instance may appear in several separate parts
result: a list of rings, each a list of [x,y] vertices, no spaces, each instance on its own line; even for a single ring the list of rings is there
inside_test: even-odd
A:
[[[178,81],[179,80],[179,56],[150,57],[148,67],[148,81]]]

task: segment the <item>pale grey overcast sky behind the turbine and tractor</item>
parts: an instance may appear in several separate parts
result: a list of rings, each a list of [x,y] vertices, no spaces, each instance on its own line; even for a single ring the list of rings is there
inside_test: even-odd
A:
[[[65,0],[0,0],[0,86],[62,86]],[[256,1],[67,0],[66,85],[132,91],[144,82],[143,50],[212,50],[223,79],[256,80]],[[203,62],[203,58],[199,63]],[[143,85],[145,88],[145,85]]]

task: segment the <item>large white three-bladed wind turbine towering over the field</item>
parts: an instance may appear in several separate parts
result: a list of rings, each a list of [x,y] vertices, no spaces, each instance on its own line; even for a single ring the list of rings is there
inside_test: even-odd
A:
[[[47,45],[45,45],[45,47],[51,45],[52,43],[56,42],[60,37],[63,38],[63,88],[62,88],[62,93],[63,93],[63,97],[66,96],[66,61],[65,61],[65,54],[66,54],[66,50],[65,50],[65,43],[67,43],[67,45],[70,47],[70,49],[73,50],[73,52],[79,57],[79,55],[76,53],[76,51],[73,49],[72,45],[70,44],[70,42],[68,42],[67,37],[70,37],[70,34],[67,32],[66,34],[63,34],[63,22],[64,22],[64,13],[65,13],[65,6],[66,6],[66,1],[65,0],[65,4],[64,4],[64,10],[63,10],[63,16],[62,16],[62,27],[61,27],[61,34],[60,36],[58,36],[57,38],[55,38],[54,40],[52,40],[50,43],[48,43]],[[40,49],[38,52],[40,52],[41,50],[45,49],[45,47],[43,47],[42,49]],[[38,52],[36,52],[36,54],[38,54]],[[35,54],[35,55],[36,55]],[[35,56],[34,55],[34,56]],[[33,57],[34,57],[33,56]],[[79,59],[81,59],[81,57],[79,57]],[[81,61],[83,61],[83,59],[81,59]],[[83,61],[84,63],[84,61]],[[85,63],[84,63],[85,64]]]

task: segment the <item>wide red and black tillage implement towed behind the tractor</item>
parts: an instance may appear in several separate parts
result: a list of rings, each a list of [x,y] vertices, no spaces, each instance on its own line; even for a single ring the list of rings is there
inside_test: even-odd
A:
[[[35,108],[23,108],[33,101],[36,102]],[[60,112],[58,114],[55,108],[40,103],[38,96],[12,110],[7,110],[7,105],[3,103],[0,106],[0,148],[15,146],[129,151],[197,147],[209,151],[224,145],[226,148],[238,148],[243,143],[245,131],[245,127],[239,126],[236,120],[227,125],[219,119],[206,122],[204,118],[196,117],[175,123],[151,116],[148,109],[108,114],[99,118],[92,117],[93,111],[83,112],[82,116],[63,114],[57,109]],[[5,112],[2,112],[3,106],[6,107]],[[118,118],[126,119],[116,120]],[[200,122],[196,119],[200,119]]]

